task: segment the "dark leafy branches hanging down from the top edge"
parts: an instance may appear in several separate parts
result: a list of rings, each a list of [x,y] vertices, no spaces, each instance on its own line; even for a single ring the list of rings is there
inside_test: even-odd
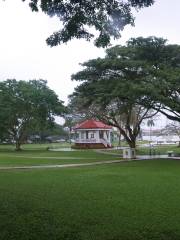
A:
[[[73,38],[90,40],[94,37],[93,27],[98,33],[96,46],[105,47],[110,38],[120,37],[127,24],[134,24],[132,8],[149,7],[154,0],[23,0],[29,2],[33,11],[40,9],[62,22],[61,30],[48,39],[50,46],[66,43]]]

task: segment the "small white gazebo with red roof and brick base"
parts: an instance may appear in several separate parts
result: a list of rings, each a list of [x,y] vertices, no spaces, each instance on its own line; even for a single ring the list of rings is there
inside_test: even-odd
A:
[[[96,120],[86,120],[73,128],[78,148],[110,148],[112,127]]]

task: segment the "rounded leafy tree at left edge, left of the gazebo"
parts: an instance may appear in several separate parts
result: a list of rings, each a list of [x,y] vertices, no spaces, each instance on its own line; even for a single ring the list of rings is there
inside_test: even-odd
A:
[[[44,80],[0,82],[0,128],[16,143],[16,150],[32,129],[47,128],[65,108]]]

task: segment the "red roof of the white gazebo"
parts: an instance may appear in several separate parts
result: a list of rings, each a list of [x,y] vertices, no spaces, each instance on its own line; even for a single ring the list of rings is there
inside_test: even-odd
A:
[[[96,120],[86,120],[82,123],[77,124],[74,129],[112,129],[111,126],[104,124],[103,122]]]

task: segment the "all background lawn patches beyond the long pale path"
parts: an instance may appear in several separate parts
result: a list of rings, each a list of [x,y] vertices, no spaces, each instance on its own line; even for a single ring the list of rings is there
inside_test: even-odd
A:
[[[122,159],[122,150],[103,150],[108,154],[97,153],[93,150],[76,150],[76,151],[47,151],[47,147],[65,148],[69,147],[66,143],[57,144],[25,144],[22,146],[23,151],[14,151],[12,145],[0,145],[0,167],[4,166],[30,166],[30,165],[47,165],[47,164],[72,164],[72,163],[89,163],[104,160]],[[173,151],[180,154],[180,148],[177,146],[158,146],[155,147],[157,155],[167,154],[167,151]],[[112,153],[112,155],[110,155]],[[137,148],[138,155],[148,155],[149,148]]]

